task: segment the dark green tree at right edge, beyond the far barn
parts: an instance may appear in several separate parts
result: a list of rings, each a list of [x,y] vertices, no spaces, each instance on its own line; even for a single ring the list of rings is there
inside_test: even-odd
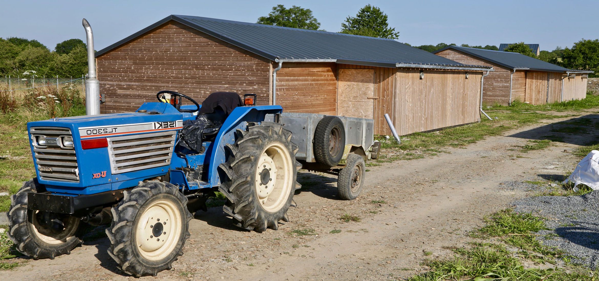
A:
[[[564,57],[559,63],[564,68],[594,71],[589,77],[599,77],[599,39],[582,39],[564,49]]]

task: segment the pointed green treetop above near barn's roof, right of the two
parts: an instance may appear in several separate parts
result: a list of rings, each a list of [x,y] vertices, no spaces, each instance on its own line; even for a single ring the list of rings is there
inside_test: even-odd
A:
[[[361,8],[355,17],[347,16],[341,23],[341,32],[353,35],[397,39],[400,32],[395,28],[389,28],[388,16],[378,7],[370,4]]]

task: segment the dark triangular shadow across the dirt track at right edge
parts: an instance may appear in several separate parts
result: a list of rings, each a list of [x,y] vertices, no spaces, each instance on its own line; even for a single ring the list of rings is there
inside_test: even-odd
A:
[[[589,145],[599,138],[599,115],[588,114],[510,135],[513,138]]]

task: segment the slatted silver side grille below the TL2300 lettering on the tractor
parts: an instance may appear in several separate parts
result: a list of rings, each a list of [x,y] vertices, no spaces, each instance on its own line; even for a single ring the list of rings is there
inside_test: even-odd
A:
[[[108,139],[110,169],[113,174],[170,164],[176,131]]]

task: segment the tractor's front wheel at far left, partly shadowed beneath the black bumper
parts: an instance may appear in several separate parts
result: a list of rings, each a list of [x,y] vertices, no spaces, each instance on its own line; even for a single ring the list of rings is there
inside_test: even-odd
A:
[[[11,197],[8,210],[8,237],[19,252],[34,259],[69,254],[83,240],[84,223],[81,219],[62,213],[29,210],[28,193],[37,193],[35,179],[25,182]]]

